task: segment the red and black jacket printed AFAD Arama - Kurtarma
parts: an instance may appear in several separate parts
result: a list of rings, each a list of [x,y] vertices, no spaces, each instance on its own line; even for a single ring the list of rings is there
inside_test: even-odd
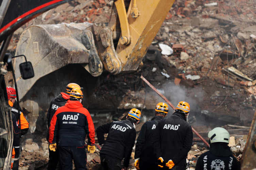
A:
[[[79,101],[68,100],[65,106],[57,109],[49,128],[49,144],[56,143],[58,131],[58,146],[83,147],[85,136],[88,145],[95,145],[95,129],[91,115]]]

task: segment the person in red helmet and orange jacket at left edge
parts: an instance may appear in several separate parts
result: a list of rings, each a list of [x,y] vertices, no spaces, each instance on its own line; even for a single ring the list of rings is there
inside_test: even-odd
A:
[[[9,103],[10,107],[12,108],[12,111],[16,115],[17,120],[19,120],[19,118],[20,118],[20,125],[21,125],[20,128],[21,128],[21,137],[22,137],[24,134],[28,133],[29,123],[26,120],[24,114],[22,113],[22,109],[21,108],[18,109],[18,103],[15,100],[15,98],[17,98],[16,90],[12,87],[6,87],[6,90],[10,91],[10,94],[11,94],[11,98],[9,99],[8,103]],[[19,114],[20,114],[20,116],[19,116]],[[19,123],[19,121],[18,121],[18,123]]]

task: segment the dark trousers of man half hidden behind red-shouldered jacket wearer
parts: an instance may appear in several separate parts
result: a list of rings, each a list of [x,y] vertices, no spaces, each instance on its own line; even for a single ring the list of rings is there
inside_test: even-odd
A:
[[[47,170],[55,170],[58,163],[58,170],[62,170],[61,161],[59,161],[59,148],[57,147],[56,151],[52,151],[49,149],[49,161],[48,161],[48,168]]]

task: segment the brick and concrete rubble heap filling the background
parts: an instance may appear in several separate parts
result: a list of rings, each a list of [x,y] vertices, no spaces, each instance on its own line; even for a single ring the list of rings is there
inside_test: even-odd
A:
[[[113,1],[107,0],[75,0],[53,8],[16,30],[8,52],[15,54],[22,31],[30,25],[108,22],[112,4]],[[174,106],[179,101],[189,102],[189,116],[196,119],[191,126],[205,139],[207,131],[223,126],[238,140],[232,146],[240,144],[242,148],[241,143],[245,142],[243,135],[248,134],[249,129],[237,129],[226,124],[248,127],[253,119],[256,108],[255,42],[255,1],[177,0],[145,55],[142,70],[109,75],[84,107],[92,110],[91,113],[94,109],[114,112],[108,111],[97,119],[93,118],[95,127],[125,119],[124,115],[131,108],[141,109],[143,117],[136,127],[138,135],[143,122],[154,116],[155,105],[163,101],[141,81],[140,76],[143,75]],[[5,76],[5,81],[6,85],[13,86],[10,73]],[[102,104],[99,106],[97,103]],[[168,116],[171,113],[170,108]],[[44,112],[39,114],[36,131],[22,139],[20,163],[24,170],[47,168],[46,132]],[[202,145],[200,142],[193,146]],[[242,151],[235,152],[239,160]],[[90,162],[95,156],[88,154],[89,164],[99,163]]]

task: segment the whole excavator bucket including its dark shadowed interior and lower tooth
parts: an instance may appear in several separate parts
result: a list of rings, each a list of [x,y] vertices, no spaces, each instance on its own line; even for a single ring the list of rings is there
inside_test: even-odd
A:
[[[29,81],[21,78],[19,64],[25,61],[24,57],[17,58],[14,67],[18,70],[15,77],[21,105],[23,103],[23,108],[32,113],[29,114],[31,132],[35,131],[39,111],[47,110],[50,101],[63,92],[68,83],[83,86],[87,96],[95,88],[95,83],[99,83],[101,77],[97,76],[102,74],[103,65],[93,35],[86,29],[91,25],[86,22],[33,25],[23,31],[16,55],[27,57],[33,65],[35,76]],[[87,78],[93,82],[84,82]],[[44,89],[42,84],[47,88]]]

